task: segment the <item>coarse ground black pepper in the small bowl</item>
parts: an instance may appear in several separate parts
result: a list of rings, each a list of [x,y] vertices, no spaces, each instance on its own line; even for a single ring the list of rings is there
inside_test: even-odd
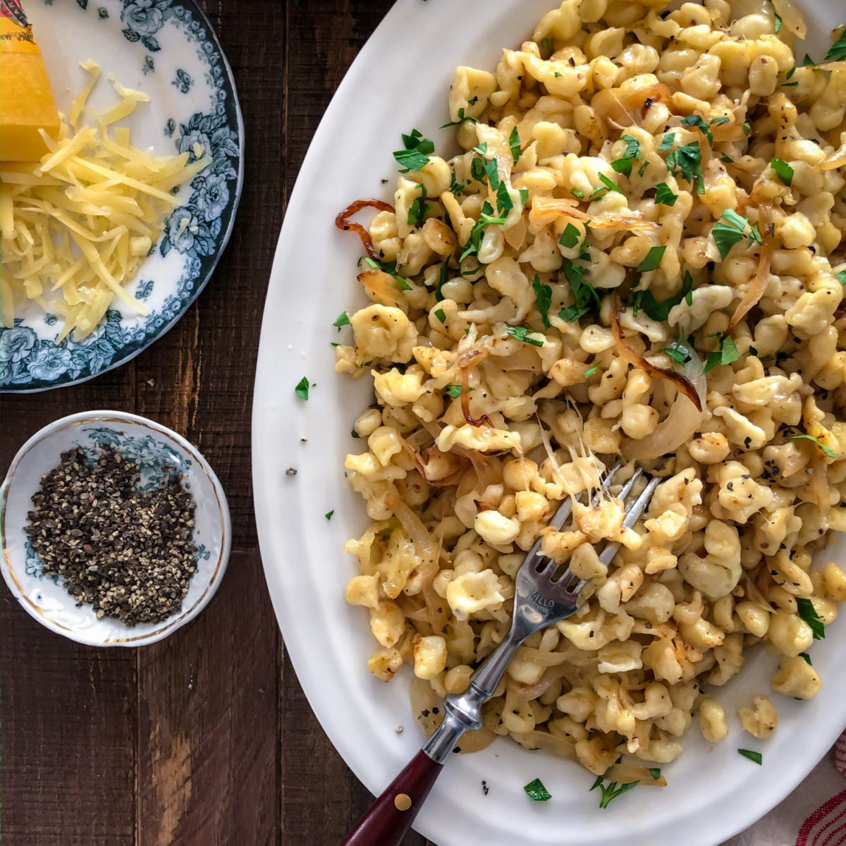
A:
[[[41,477],[25,530],[44,572],[64,579],[80,605],[128,626],[158,623],[182,607],[196,569],[194,497],[175,472],[141,491],[140,467],[112,446],[96,464],[80,448]]]

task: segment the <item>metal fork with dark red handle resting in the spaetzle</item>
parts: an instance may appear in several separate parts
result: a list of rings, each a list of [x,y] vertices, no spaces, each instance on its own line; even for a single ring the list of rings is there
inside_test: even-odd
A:
[[[602,479],[607,486],[618,472],[617,464]],[[628,504],[623,525],[630,529],[650,503],[656,486],[661,481],[650,478],[643,470],[635,470],[618,496],[625,502],[635,481],[643,475],[646,485],[634,501]],[[599,493],[592,503],[599,502]],[[550,521],[551,525],[563,525],[573,508],[569,498],[558,508]],[[617,554],[620,545],[609,541],[599,554],[602,563],[608,565]],[[342,846],[399,846],[411,827],[423,801],[440,775],[444,763],[464,732],[481,728],[483,720],[481,707],[493,695],[508,662],[514,657],[519,645],[530,636],[558,620],[568,618],[580,605],[580,591],[587,582],[577,579],[568,567],[563,567],[541,554],[541,539],[530,549],[517,573],[514,591],[514,617],[508,636],[503,638],[491,655],[470,677],[470,686],[462,694],[448,695],[444,703],[444,718],[435,733],[426,740],[420,752],[409,762],[398,777],[390,783],[376,799]]]

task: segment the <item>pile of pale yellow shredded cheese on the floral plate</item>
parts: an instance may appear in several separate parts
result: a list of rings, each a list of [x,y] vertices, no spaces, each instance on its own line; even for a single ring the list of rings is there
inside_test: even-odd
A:
[[[189,163],[187,152],[155,157],[132,146],[129,129],[112,124],[149,96],[109,74],[120,99],[95,112],[87,101],[100,68],[91,60],[82,67],[91,77],[58,138],[42,133],[47,154],[0,167],[0,320],[12,326],[35,302],[63,317],[59,341],[93,332],[115,297],[148,313],[126,285],[179,206],[171,191],[211,163],[208,156]],[[80,124],[83,115],[93,125]]]

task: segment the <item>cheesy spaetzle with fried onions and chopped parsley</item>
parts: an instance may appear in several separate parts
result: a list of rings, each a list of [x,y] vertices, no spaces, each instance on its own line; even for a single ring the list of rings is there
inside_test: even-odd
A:
[[[673,761],[691,722],[768,737],[781,697],[821,689],[813,643],[846,601],[811,563],[846,530],[846,36],[814,63],[784,0],[662,6],[564,0],[493,71],[460,67],[459,154],[410,131],[393,204],[338,216],[371,300],[335,321],[336,370],[376,392],[346,460],[368,667],[412,665],[419,705],[464,690],[540,537],[588,598],[519,649],[462,749],[509,735],[596,774]],[[662,483],[626,529],[635,464]],[[727,713],[758,642],[772,690]]]

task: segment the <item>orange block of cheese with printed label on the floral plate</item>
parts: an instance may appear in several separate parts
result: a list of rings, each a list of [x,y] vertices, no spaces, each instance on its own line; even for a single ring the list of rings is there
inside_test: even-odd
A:
[[[59,119],[41,50],[19,0],[0,0],[0,161],[37,162]]]

